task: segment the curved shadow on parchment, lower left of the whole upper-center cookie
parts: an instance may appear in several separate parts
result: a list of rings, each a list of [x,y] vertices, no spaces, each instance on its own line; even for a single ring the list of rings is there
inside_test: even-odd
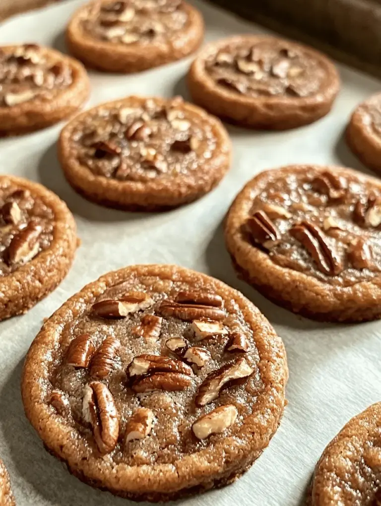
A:
[[[57,158],[57,143],[52,144],[41,156],[38,164],[39,182],[56,193],[71,210],[88,221],[95,222],[120,222],[128,220],[147,219],[152,213],[130,213],[110,209],[89,200],[76,193],[66,181],[62,168]]]

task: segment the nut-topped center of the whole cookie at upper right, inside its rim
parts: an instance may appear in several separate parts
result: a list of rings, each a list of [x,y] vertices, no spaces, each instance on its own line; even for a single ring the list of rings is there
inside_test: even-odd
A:
[[[205,71],[219,87],[250,97],[308,97],[326,77],[303,48],[275,39],[227,44],[206,59]]]

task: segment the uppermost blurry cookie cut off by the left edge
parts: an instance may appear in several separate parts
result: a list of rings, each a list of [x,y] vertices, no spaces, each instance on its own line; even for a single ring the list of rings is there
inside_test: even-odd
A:
[[[0,47],[0,135],[43,129],[70,116],[89,95],[83,66],[36,44]]]

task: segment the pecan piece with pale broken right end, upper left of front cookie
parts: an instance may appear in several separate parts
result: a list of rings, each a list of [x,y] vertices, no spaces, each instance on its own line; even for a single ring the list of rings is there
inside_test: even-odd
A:
[[[105,299],[93,305],[93,311],[102,318],[124,318],[131,313],[152,306],[153,300],[147,293],[131,292],[119,299]]]

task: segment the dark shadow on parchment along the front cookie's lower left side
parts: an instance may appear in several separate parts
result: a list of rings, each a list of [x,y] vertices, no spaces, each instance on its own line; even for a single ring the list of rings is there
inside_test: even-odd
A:
[[[65,466],[50,455],[29,424],[23,409],[20,381],[24,360],[12,371],[0,392],[0,425],[11,460],[20,478],[13,479],[18,504],[54,504],[55,506],[133,506],[135,502],[114,497],[80,482]],[[12,480],[12,477],[11,477]],[[37,500],[35,499],[37,496]],[[38,500],[40,499],[40,500]],[[142,502],[142,506],[148,503]]]

